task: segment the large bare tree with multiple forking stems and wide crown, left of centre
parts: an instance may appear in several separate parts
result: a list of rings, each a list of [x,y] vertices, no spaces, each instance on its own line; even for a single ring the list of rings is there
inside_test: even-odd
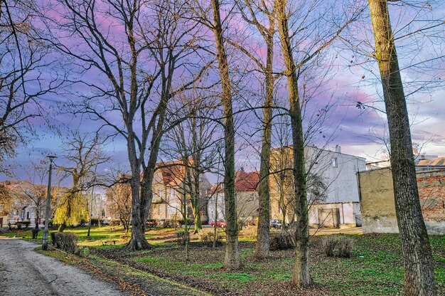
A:
[[[200,30],[194,22],[181,18],[184,1],[62,3],[63,18],[68,21],[55,26],[69,37],[59,34],[53,44],[70,56],[83,74],[94,69],[104,78],[100,83],[80,79],[94,93],[82,94],[85,105],[81,112],[126,140],[133,206],[132,238],[127,248],[149,248],[144,228],[153,198],[159,144],[163,133],[175,124],[166,122],[168,102],[199,80],[208,67],[191,59],[200,50]],[[119,33],[109,32],[114,26]],[[70,44],[72,38],[77,38],[79,46]],[[180,74],[188,82],[176,83]],[[122,124],[116,117],[122,118]]]

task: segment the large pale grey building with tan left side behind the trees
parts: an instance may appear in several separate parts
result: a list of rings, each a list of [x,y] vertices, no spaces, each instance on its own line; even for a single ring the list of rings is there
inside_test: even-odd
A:
[[[308,146],[305,148],[309,224],[314,227],[360,224],[356,173],[366,169],[363,157]],[[279,147],[271,153],[271,218],[294,221],[293,149]]]

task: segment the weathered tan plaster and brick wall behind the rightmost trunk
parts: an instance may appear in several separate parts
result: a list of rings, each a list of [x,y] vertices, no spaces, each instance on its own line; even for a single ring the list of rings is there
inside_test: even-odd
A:
[[[358,175],[363,233],[398,233],[390,169]],[[417,185],[428,233],[445,235],[445,171],[419,171]]]

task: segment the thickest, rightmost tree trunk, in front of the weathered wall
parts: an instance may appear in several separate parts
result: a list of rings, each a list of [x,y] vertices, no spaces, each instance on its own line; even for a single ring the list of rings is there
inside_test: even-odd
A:
[[[404,295],[436,295],[427,228],[417,190],[407,103],[387,1],[369,0],[390,133],[390,160],[397,223],[404,258]]]

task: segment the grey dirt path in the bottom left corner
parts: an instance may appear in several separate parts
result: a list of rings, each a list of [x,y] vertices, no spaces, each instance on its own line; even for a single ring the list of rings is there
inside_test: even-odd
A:
[[[1,295],[123,295],[74,266],[36,253],[36,246],[0,237]]]

